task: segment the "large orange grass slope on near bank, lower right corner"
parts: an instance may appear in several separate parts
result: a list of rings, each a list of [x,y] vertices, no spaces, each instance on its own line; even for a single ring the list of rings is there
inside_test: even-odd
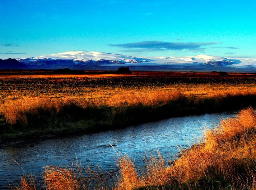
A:
[[[255,189],[255,159],[256,114],[252,108],[248,108],[242,110],[236,118],[223,120],[218,127],[208,130],[205,142],[181,151],[180,157],[171,167],[160,164],[162,157],[154,160],[153,165],[147,165],[146,170],[154,171],[156,178],[151,177],[151,172],[146,172],[146,175],[137,177],[137,184],[122,184],[120,180],[120,189],[143,186],[146,189],[153,186],[167,189]],[[126,158],[126,162],[130,160]],[[120,179],[129,177],[127,174],[129,171],[122,171]]]

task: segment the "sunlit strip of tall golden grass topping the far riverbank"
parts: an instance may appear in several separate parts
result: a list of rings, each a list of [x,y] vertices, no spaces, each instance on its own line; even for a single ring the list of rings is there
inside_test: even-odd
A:
[[[108,99],[97,98],[94,101],[88,99],[78,99],[74,97],[63,98],[49,98],[49,97],[25,97],[19,99],[9,99],[0,104],[0,117],[10,125],[16,125],[18,122],[22,125],[28,124],[28,117],[39,118],[43,113],[60,113],[64,108],[82,108],[87,109],[89,107],[101,108],[101,107],[151,107],[167,105],[171,102],[183,101],[184,103],[203,103],[207,99],[215,101],[225,101],[225,99],[231,99],[233,97],[252,97],[256,96],[256,90],[251,91],[222,91],[211,92],[207,96],[195,96],[194,94],[185,94],[181,91],[159,91],[148,92],[143,94],[136,94],[134,92],[127,92],[126,94],[119,93],[114,94]],[[117,110],[113,109],[112,115]],[[122,111],[118,109],[118,111]]]

